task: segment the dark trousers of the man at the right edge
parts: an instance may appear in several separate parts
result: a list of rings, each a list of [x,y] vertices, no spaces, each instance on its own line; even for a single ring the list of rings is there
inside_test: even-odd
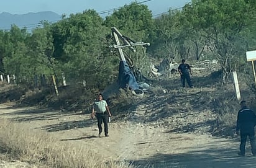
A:
[[[245,144],[246,144],[246,139],[247,139],[247,136],[249,136],[249,139],[250,139],[250,146],[251,146],[251,149],[252,149],[252,154],[256,154],[256,148],[255,148],[255,136],[254,136],[254,131],[253,132],[250,132],[250,133],[243,133],[241,131],[240,133],[240,138],[241,138],[241,141],[240,141],[240,153],[242,155],[245,154]]]

